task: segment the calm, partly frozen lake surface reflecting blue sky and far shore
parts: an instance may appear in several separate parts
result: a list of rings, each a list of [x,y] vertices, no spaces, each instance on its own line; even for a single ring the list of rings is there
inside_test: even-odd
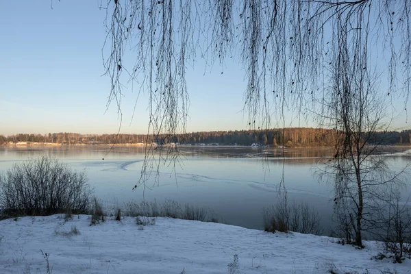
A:
[[[410,162],[408,148],[386,147],[397,169]],[[332,225],[332,185],[314,175],[328,148],[268,149],[251,147],[182,147],[182,168],[160,169],[159,184],[132,191],[140,175],[143,147],[64,146],[0,147],[0,171],[27,158],[49,154],[74,169],[85,169],[95,195],[122,205],[127,201],[173,199],[179,203],[210,208],[225,223],[262,229],[262,208],[277,201],[278,186],[286,184],[288,199],[306,201],[323,216],[322,225]],[[102,160],[105,158],[105,160]],[[409,193],[409,192],[407,192]]]

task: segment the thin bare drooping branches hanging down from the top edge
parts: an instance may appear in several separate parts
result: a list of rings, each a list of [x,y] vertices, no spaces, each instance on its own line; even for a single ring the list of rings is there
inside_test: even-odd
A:
[[[146,152],[152,155],[146,160],[166,148],[157,164],[145,164],[145,175],[178,158],[175,147],[163,145],[178,142],[177,134],[186,131],[186,73],[197,57],[210,68],[216,60],[224,66],[228,58],[239,57],[252,129],[286,126],[286,112],[299,120],[328,113],[327,98],[341,92],[329,89],[336,62],[350,62],[345,82],[355,78],[361,84],[369,73],[377,73],[386,76],[388,88],[382,92],[389,98],[407,102],[410,94],[407,0],[108,0],[107,14],[103,63],[111,80],[108,103],[115,102],[121,115],[123,85],[137,83],[149,96],[152,138],[147,138]],[[319,123],[327,125],[324,119]]]

